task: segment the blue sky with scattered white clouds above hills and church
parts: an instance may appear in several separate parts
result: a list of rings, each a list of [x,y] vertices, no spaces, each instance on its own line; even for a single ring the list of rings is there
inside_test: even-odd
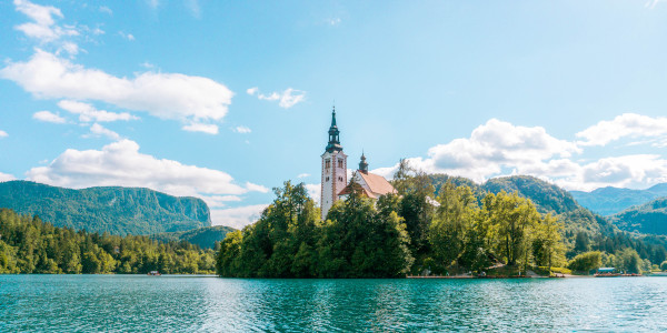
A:
[[[667,182],[667,1],[0,1],[0,181],[146,186],[241,228],[355,167]]]

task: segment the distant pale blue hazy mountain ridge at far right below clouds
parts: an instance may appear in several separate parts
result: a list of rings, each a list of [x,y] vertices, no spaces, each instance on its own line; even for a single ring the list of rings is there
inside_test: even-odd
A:
[[[634,205],[644,204],[660,196],[667,196],[667,183],[647,190],[601,188],[591,192],[570,191],[583,206],[605,216],[616,214]]]

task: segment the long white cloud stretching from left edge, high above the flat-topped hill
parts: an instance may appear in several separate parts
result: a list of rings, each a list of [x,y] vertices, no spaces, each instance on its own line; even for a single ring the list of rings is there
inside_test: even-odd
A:
[[[17,82],[37,98],[96,100],[186,123],[221,120],[233,95],[227,87],[208,78],[155,72],[133,79],[118,78],[39,49],[29,61],[8,64],[0,70],[0,77]]]

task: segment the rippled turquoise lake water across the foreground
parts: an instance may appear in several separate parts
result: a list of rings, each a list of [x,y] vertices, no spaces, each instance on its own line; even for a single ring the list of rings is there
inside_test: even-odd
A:
[[[667,278],[0,275],[0,332],[667,331]]]

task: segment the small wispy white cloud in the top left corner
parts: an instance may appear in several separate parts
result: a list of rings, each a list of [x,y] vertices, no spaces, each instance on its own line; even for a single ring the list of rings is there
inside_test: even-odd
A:
[[[79,32],[70,27],[56,26],[54,18],[62,18],[60,9],[52,6],[39,6],[27,0],[14,0],[17,11],[22,12],[32,22],[19,24],[14,29],[23,32],[27,37],[46,43],[60,39],[63,36],[78,36]]]

